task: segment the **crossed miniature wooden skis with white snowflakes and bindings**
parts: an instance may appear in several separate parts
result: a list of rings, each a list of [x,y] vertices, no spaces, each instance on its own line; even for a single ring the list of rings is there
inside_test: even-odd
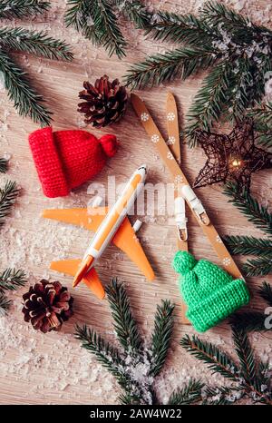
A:
[[[141,120],[146,133],[150,136],[151,143],[154,143],[162,161],[170,171],[174,182],[175,195],[175,220],[178,231],[178,248],[182,251],[188,251],[188,231],[185,202],[190,211],[198,221],[200,228],[205,233],[209,243],[219,256],[220,263],[226,271],[235,279],[243,279],[241,272],[230,256],[224,242],[219,237],[218,231],[213,226],[198,196],[192,190],[189,182],[181,170],[180,153],[180,132],[177,104],[172,93],[168,93],[166,102],[166,120],[168,129],[168,140],[164,140],[158,127],[154,123],[151,113],[149,113],[145,103],[141,98],[131,93],[131,103],[136,114]],[[183,323],[189,324],[186,318],[186,306],[181,304],[181,319]]]

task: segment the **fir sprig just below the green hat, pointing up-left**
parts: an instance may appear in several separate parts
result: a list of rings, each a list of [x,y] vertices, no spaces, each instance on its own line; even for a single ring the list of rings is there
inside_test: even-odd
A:
[[[236,381],[238,378],[238,367],[235,362],[224,352],[209,342],[202,341],[197,336],[191,339],[185,335],[180,339],[180,345],[188,350],[197,359],[201,359],[208,364],[209,369],[218,372],[225,378]]]

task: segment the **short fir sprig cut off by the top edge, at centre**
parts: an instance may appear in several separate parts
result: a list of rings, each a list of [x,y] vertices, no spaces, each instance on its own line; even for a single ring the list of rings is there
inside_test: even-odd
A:
[[[146,6],[141,0],[114,0],[114,4],[118,6],[121,14],[136,26],[136,28],[146,28],[152,14],[147,11]]]

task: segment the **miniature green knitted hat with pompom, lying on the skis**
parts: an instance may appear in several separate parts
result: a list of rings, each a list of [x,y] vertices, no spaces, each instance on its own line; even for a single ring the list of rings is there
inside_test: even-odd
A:
[[[173,268],[180,273],[180,292],[188,306],[187,317],[195,330],[204,332],[248,303],[244,280],[232,277],[208,260],[196,259],[187,251],[178,251]]]

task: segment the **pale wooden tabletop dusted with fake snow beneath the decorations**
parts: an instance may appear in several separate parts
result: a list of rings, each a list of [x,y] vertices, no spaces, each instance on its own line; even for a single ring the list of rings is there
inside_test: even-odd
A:
[[[141,31],[124,23],[123,31],[130,40],[127,57],[120,62],[113,56],[110,60],[103,49],[95,49],[80,34],[63,26],[65,2],[54,0],[52,10],[31,23],[34,29],[46,29],[56,37],[62,37],[72,45],[75,58],[73,63],[57,63],[39,59],[31,55],[15,54],[15,59],[30,74],[30,78],[40,93],[44,94],[49,108],[53,111],[53,128],[73,129],[83,127],[83,119],[76,112],[77,94],[82,89],[83,80],[93,81],[102,74],[110,78],[121,76],[130,64],[141,60],[145,54],[164,51],[169,44],[155,44],[145,39]],[[203,2],[199,0],[155,1],[149,2],[161,9],[182,13],[196,12]],[[225,2],[235,4],[238,9],[243,5],[243,13],[249,13],[256,21],[269,24],[271,12],[265,1]],[[15,25],[15,23],[12,23]],[[29,23],[24,23],[29,26]],[[189,108],[193,96],[199,89],[201,78],[190,78],[185,83],[179,81],[164,84],[159,88],[144,90],[142,98],[146,101],[162,133],[165,133],[165,99],[167,90],[175,94],[179,103],[180,122]],[[49,200],[41,191],[34,162],[28,148],[27,136],[38,128],[30,119],[23,119],[15,113],[12,103],[1,90],[0,98],[0,152],[11,156],[8,175],[1,176],[1,183],[8,177],[22,187],[22,195],[16,202],[15,211],[8,219],[1,233],[1,269],[6,266],[20,267],[27,271],[29,284],[42,277],[61,280],[71,288],[72,279],[48,271],[53,259],[81,257],[90,234],[73,226],[54,221],[43,221],[40,217],[44,208],[85,206],[91,195],[87,193],[88,183],[69,197]],[[180,128],[182,129],[182,128]],[[88,130],[92,131],[91,128]],[[150,172],[148,182],[170,182],[170,174],[163,167],[160,158],[147,139],[141,124],[137,121],[131,105],[120,123],[108,130],[116,133],[121,148],[108,166],[96,178],[96,182],[107,182],[108,175],[115,175],[116,181],[126,182],[131,172],[141,162],[146,162]],[[98,136],[105,131],[92,131]],[[205,157],[199,149],[188,150],[182,146],[184,171],[189,181],[199,172]],[[259,172],[253,181],[253,192],[264,204],[270,202],[272,186],[269,172]],[[228,203],[219,186],[199,190],[209,216],[220,234],[259,235],[259,231]],[[176,275],[170,262],[176,249],[176,231],[167,216],[145,218],[139,237],[156,271],[156,280],[148,283],[135,266],[119,251],[110,247],[105,252],[97,270],[103,282],[108,283],[112,276],[125,281],[135,317],[139,321],[143,336],[148,338],[156,304],[160,299],[171,299],[177,304],[175,334],[170,349],[170,357],[156,389],[161,401],[167,401],[170,391],[182,387],[190,376],[202,377],[212,383],[222,379],[211,377],[209,371],[196,359],[182,350],[179,339],[182,335],[193,334],[188,326],[180,324],[180,295]],[[209,243],[202,235],[198,225],[189,216],[189,249],[198,258],[206,257],[217,261]],[[269,278],[266,278],[269,280]],[[263,278],[248,279],[253,294]],[[27,288],[10,294],[14,306],[7,317],[0,318],[0,403],[12,404],[114,404],[119,389],[111,376],[97,364],[90,354],[80,348],[73,339],[75,323],[92,325],[107,339],[114,340],[111,317],[106,301],[94,298],[82,285],[73,290],[74,316],[63,326],[60,333],[42,334],[35,332],[23,320],[21,297]],[[249,308],[264,309],[264,303],[257,298]],[[230,330],[224,323],[201,336],[220,345],[222,349],[233,350]],[[271,358],[271,336],[267,333],[255,334],[251,339],[258,354],[263,359]]]

